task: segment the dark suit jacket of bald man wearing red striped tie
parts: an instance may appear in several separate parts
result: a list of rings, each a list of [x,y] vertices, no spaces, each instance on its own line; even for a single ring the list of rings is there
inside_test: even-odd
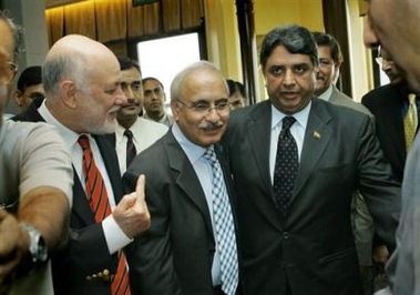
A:
[[[30,122],[44,121],[33,104],[23,119]],[[115,203],[119,203],[123,190],[115,150],[103,135],[94,135],[94,139],[106,166]],[[110,255],[102,225],[94,221],[75,171],[68,240],[68,244],[51,257],[55,294],[111,294],[110,281],[88,278],[104,269],[115,274],[119,260],[116,254]]]

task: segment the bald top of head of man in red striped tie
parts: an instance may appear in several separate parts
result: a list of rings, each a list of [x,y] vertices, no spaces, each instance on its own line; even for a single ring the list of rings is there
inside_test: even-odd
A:
[[[47,54],[42,81],[47,96],[57,98],[60,82],[73,81],[86,90],[98,71],[115,70],[119,62],[104,44],[80,34],[69,34],[57,41]]]

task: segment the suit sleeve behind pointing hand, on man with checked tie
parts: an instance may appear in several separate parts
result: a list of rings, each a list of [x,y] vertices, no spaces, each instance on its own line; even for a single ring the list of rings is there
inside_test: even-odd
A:
[[[124,174],[124,191],[134,190],[137,176],[131,171]],[[145,195],[152,222],[150,230],[129,246],[130,282],[139,294],[181,294],[172,255],[168,204],[147,182]]]

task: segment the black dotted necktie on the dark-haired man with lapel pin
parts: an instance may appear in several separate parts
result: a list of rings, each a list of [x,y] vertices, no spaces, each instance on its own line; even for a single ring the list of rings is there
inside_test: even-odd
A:
[[[290,133],[290,126],[295,122],[296,119],[293,116],[285,116],[283,119],[283,128],[278,135],[276,164],[274,167],[273,191],[283,217],[285,217],[287,213],[298,167],[297,144]]]

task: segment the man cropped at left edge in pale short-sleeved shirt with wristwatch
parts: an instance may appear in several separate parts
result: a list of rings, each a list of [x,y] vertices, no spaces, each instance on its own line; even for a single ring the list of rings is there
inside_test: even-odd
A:
[[[0,118],[19,40],[0,11]],[[0,294],[54,294],[49,256],[65,241],[72,184],[70,153],[55,129],[0,120]]]

